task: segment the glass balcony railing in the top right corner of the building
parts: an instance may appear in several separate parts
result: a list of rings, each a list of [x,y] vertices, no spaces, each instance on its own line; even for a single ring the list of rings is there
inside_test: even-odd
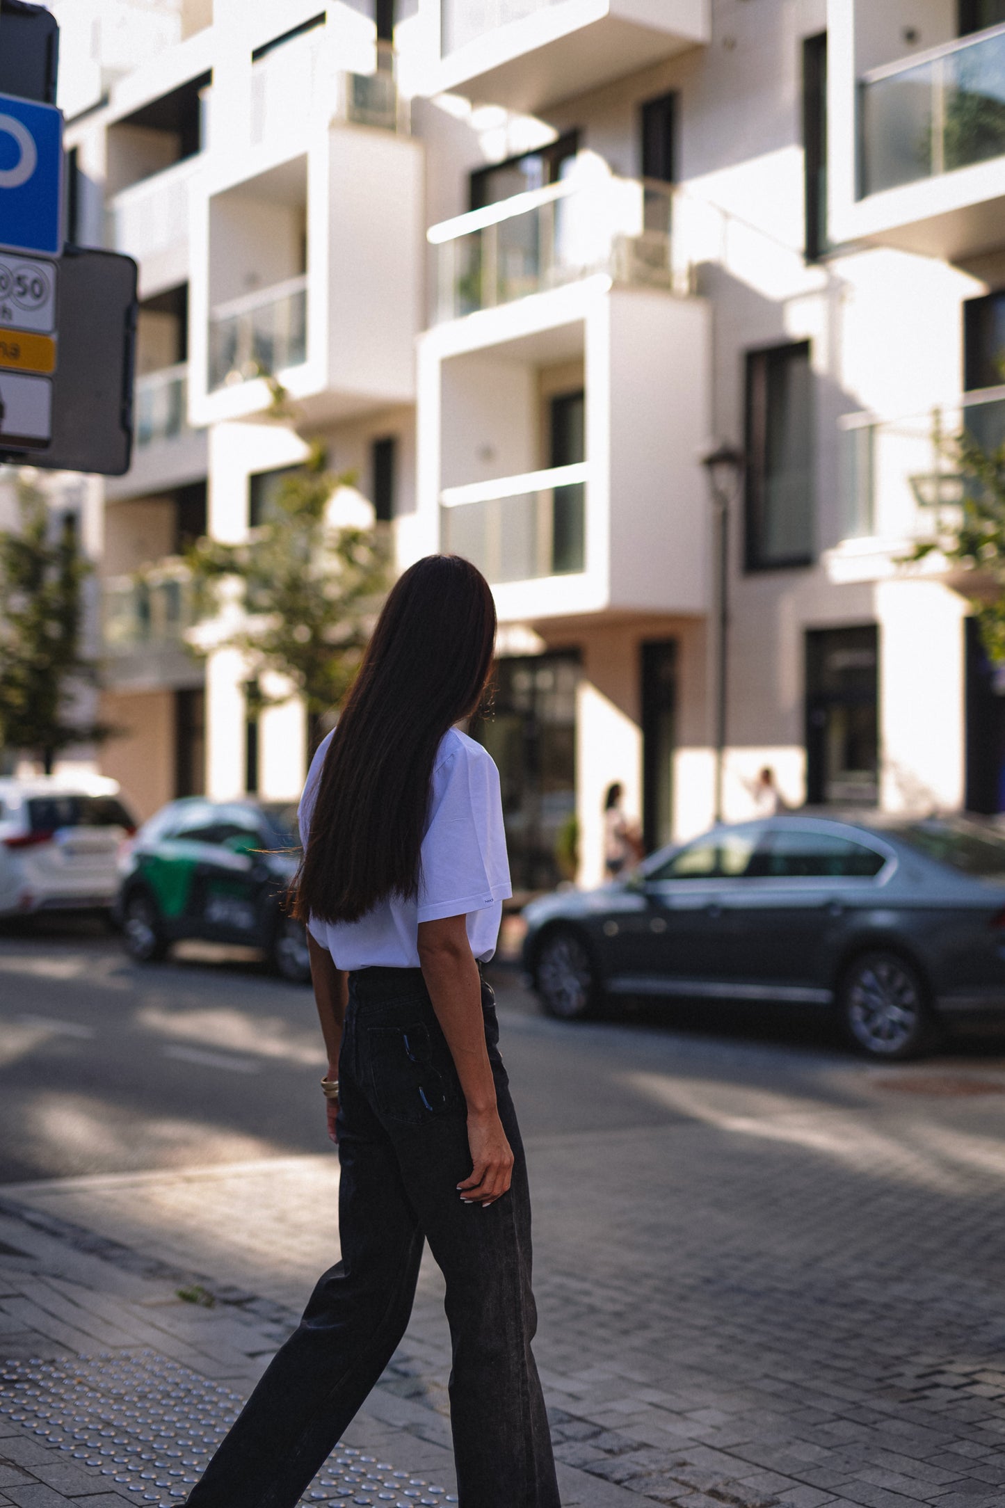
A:
[[[1005,155],[1005,26],[862,81],[862,193]]]

